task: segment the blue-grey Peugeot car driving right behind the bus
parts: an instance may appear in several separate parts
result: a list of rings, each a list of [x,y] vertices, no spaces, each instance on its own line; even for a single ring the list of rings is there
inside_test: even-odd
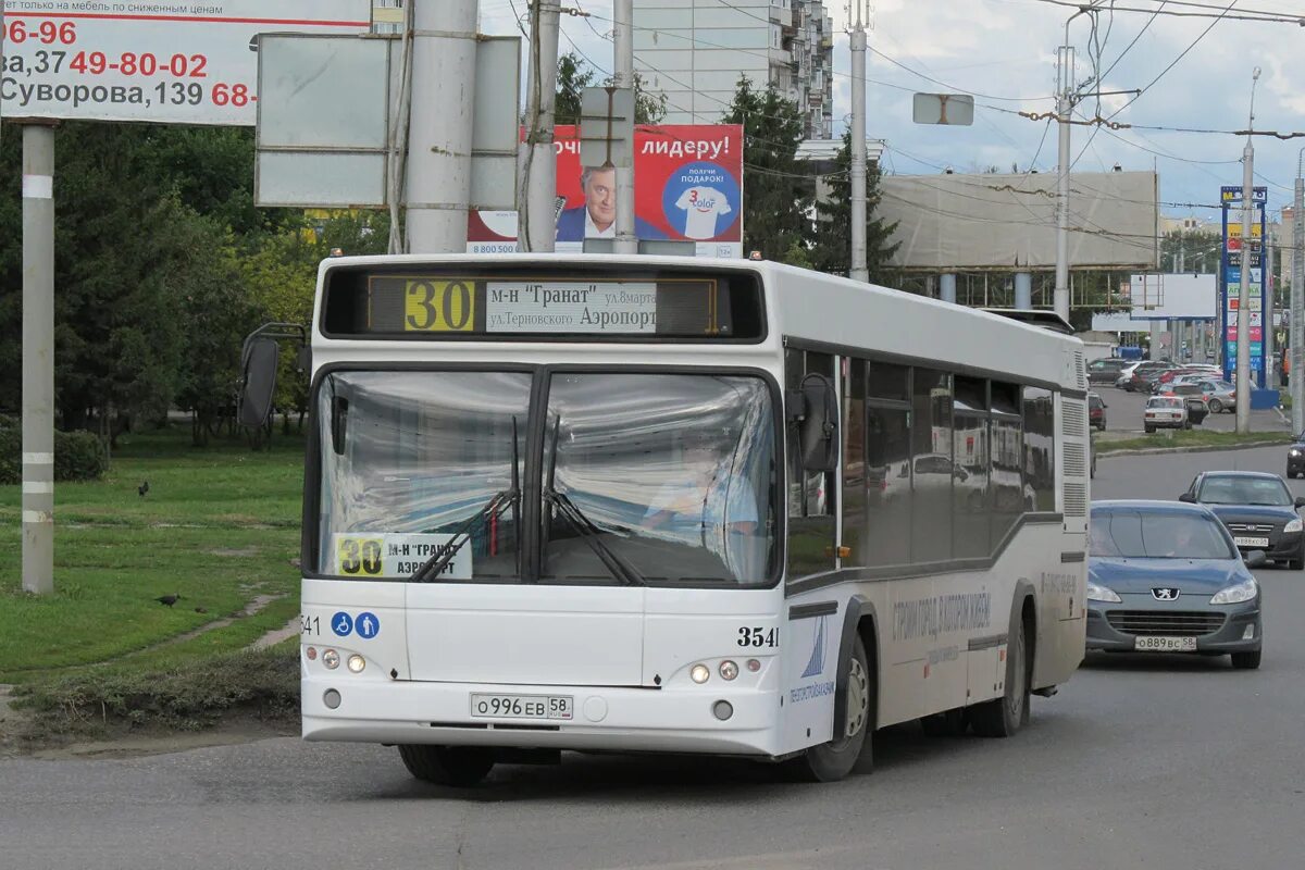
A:
[[[1087,648],[1231,655],[1259,667],[1262,593],[1228,530],[1201,505],[1092,505],[1087,558]]]

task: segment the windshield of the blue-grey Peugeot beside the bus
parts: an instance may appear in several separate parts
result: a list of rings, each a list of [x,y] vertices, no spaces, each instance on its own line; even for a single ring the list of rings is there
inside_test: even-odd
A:
[[[1107,558],[1236,558],[1208,517],[1142,510],[1092,511],[1088,552]]]

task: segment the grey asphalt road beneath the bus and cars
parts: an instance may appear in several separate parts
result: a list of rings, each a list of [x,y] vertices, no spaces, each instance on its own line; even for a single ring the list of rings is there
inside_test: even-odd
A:
[[[1173,497],[1202,468],[1282,464],[1282,449],[1103,458],[1095,494]],[[298,740],[20,759],[0,762],[0,867],[1298,870],[1305,577],[1258,575],[1257,672],[1090,659],[1013,740],[893,729],[876,772],[838,784],[568,757],[461,796],[408,779],[394,750]]]

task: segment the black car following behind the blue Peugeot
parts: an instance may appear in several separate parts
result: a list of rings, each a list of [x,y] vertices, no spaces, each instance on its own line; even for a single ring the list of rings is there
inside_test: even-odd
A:
[[[1274,562],[1305,567],[1305,527],[1287,481],[1258,471],[1203,471],[1178,501],[1207,506],[1228,527],[1242,552],[1263,550]]]

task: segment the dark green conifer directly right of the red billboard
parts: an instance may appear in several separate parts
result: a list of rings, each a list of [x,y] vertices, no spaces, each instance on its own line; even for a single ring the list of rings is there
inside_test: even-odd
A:
[[[744,249],[782,260],[812,237],[810,179],[797,163],[803,119],[796,103],[774,85],[757,90],[739,77],[733,102],[720,119],[743,125],[743,228]]]

